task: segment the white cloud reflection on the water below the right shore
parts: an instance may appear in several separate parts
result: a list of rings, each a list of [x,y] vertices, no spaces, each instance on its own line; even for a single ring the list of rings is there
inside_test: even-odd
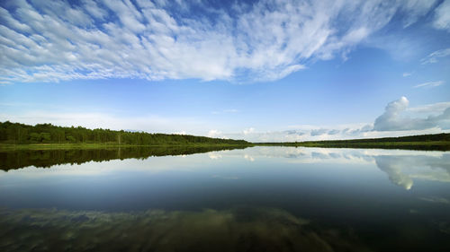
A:
[[[285,159],[295,163],[374,163],[388,175],[392,184],[407,190],[413,187],[413,178],[450,182],[450,152],[257,147],[222,155],[243,156],[246,160],[251,158],[251,161]]]

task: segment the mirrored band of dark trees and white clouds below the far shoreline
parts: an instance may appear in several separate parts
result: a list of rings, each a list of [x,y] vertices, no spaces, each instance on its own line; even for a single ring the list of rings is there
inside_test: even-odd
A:
[[[87,161],[115,159],[144,160],[150,156],[184,156],[208,152],[209,159],[217,162],[224,162],[224,158],[243,158],[251,162],[273,160],[284,163],[375,164],[387,174],[392,184],[407,190],[413,187],[415,179],[450,182],[450,152],[245,146],[237,148],[234,151],[230,151],[233,149],[231,147],[153,147],[0,152],[0,169],[28,166],[48,168],[65,163],[81,164]],[[92,173],[93,170],[89,172]]]

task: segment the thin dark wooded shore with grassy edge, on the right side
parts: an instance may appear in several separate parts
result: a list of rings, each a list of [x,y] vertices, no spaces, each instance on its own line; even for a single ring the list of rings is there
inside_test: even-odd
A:
[[[367,138],[352,140],[307,141],[295,143],[256,143],[270,146],[302,146],[324,148],[380,148],[428,151],[449,151],[450,134],[409,135],[399,137]]]

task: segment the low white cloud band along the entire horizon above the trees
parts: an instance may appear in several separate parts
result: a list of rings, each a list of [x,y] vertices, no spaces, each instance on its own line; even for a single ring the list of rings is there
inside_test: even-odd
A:
[[[2,104],[0,104],[2,105]],[[33,104],[4,103],[3,106],[32,106]],[[392,101],[374,124],[286,126],[273,131],[257,131],[256,127],[226,131],[202,117],[160,117],[147,115],[123,117],[105,113],[52,112],[30,110],[24,113],[0,113],[0,121],[10,120],[35,125],[51,123],[58,126],[127,129],[182,135],[206,135],[218,138],[245,139],[250,142],[302,142],[354,138],[423,135],[450,132],[450,101],[409,108],[409,100],[402,97]],[[287,128],[287,130],[286,130]]]

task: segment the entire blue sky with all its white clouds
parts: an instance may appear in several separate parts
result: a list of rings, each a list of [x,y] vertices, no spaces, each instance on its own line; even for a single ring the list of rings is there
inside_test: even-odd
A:
[[[293,142],[450,132],[450,0],[0,2],[0,121]]]

